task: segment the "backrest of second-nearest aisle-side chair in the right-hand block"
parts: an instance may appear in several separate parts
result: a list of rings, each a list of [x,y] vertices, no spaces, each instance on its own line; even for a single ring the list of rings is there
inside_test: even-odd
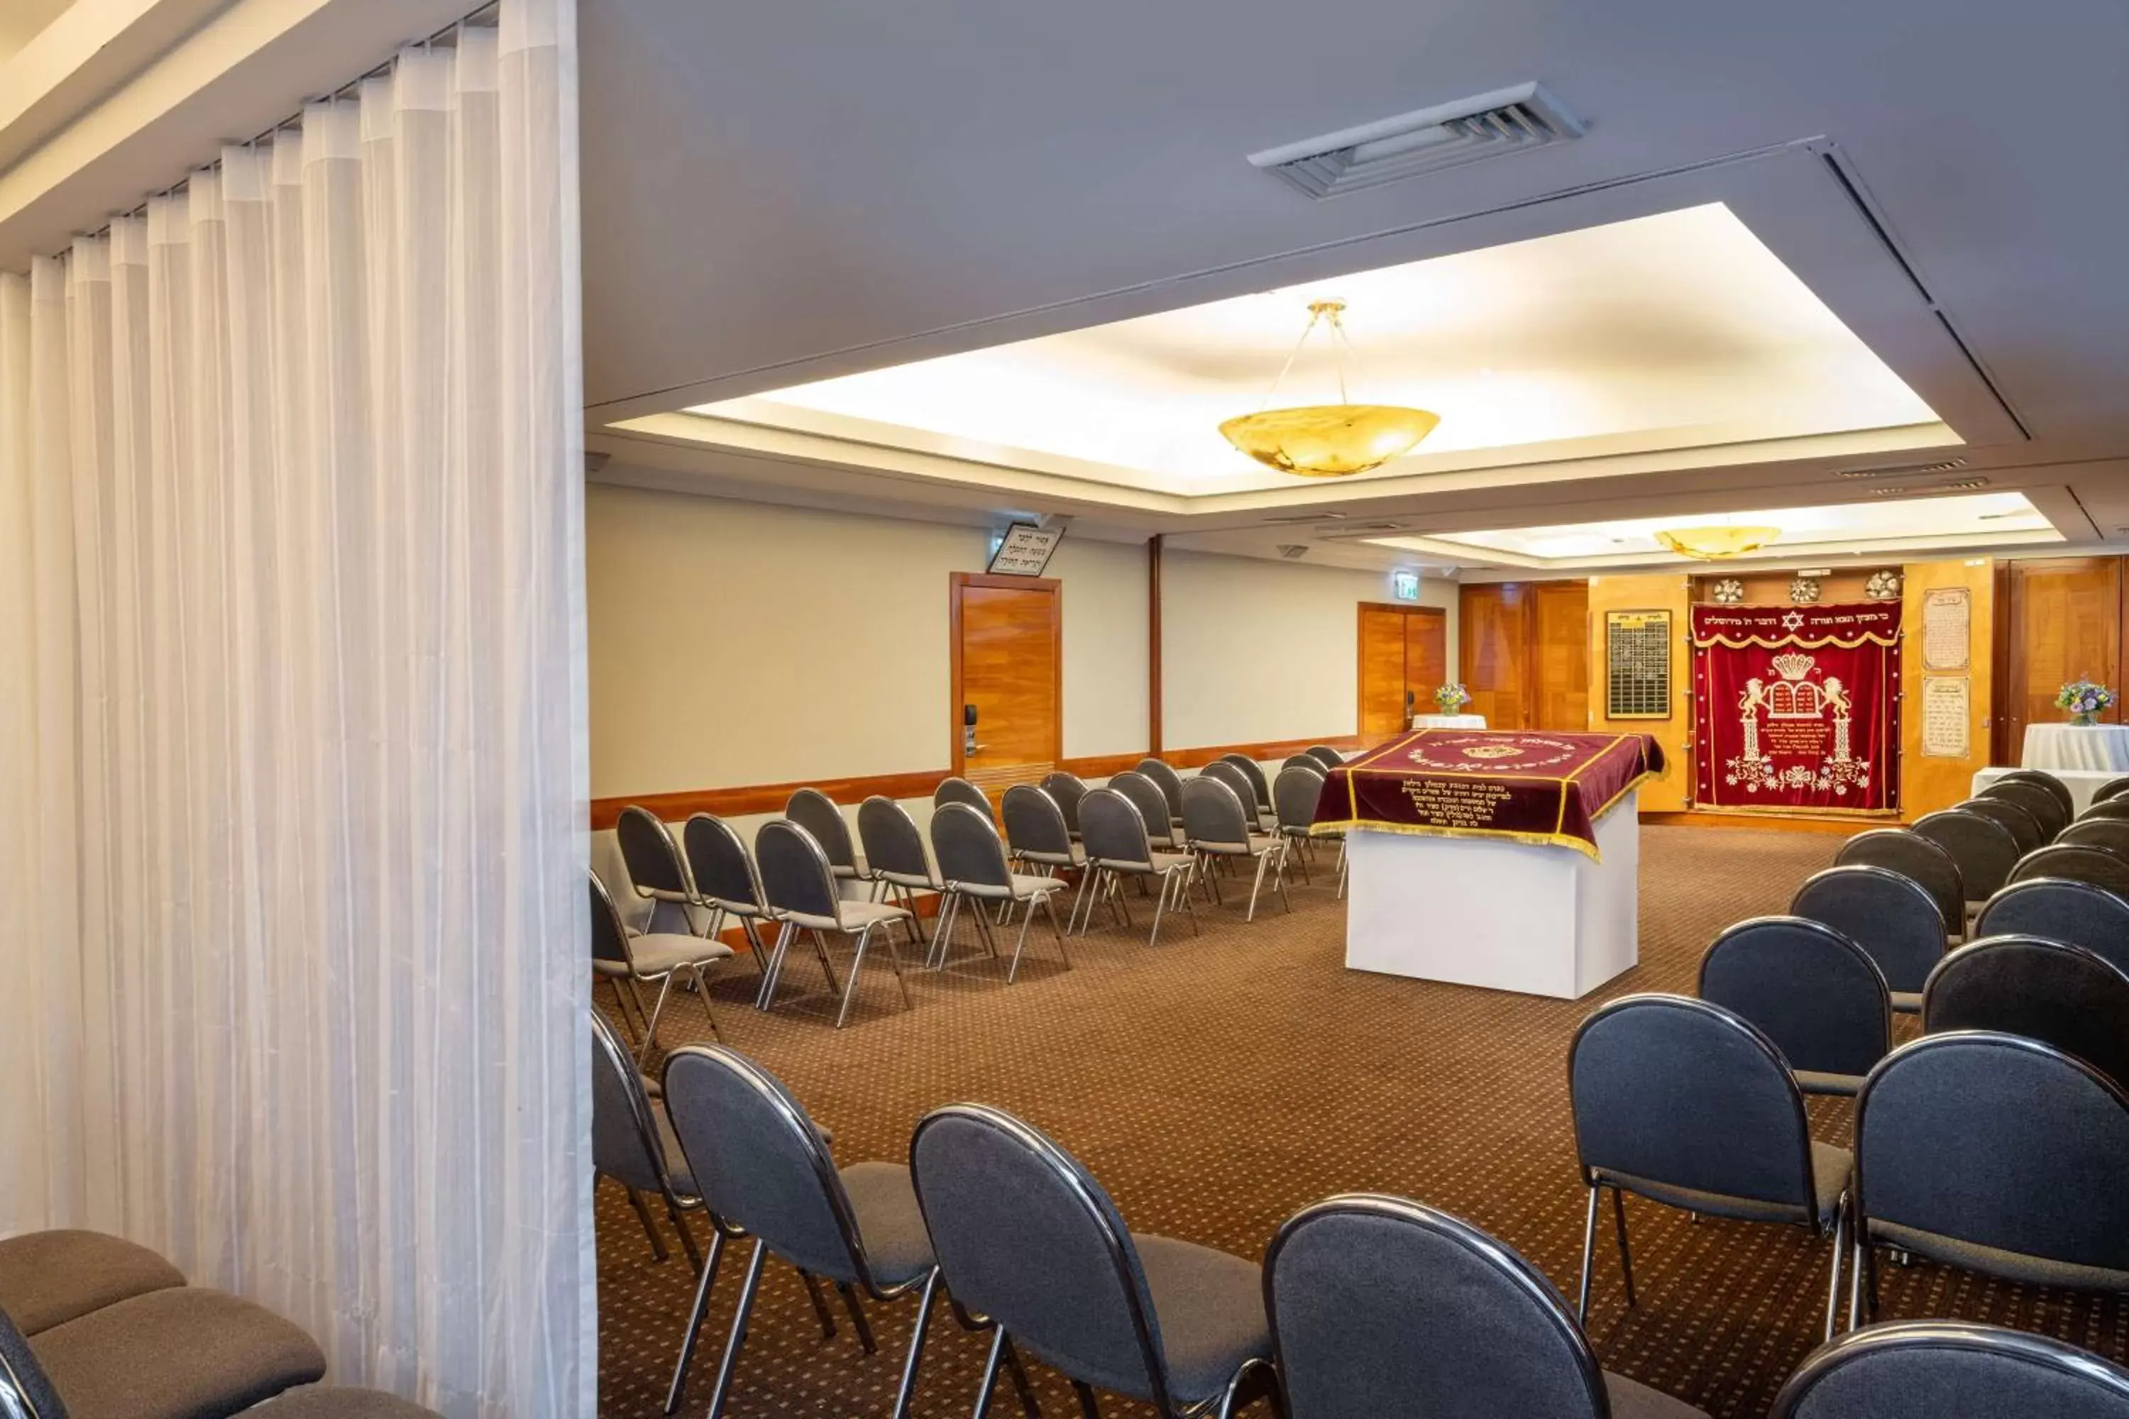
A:
[[[1867,1074],[1893,1047],[1893,998],[1863,947],[1822,921],[1739,921],[1701,957],[1701,1000],[1752,1021],[1793,1070]]]

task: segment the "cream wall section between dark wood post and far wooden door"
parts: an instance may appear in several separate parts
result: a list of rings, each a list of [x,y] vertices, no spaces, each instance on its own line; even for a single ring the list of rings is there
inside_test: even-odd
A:
[[[1160,564],[1165,749],[1348,736],[1360,723],[1360,602],[1380,572],[1171,551]],[[1446,608],[1456,664],[1456,583],[1422,581]]]

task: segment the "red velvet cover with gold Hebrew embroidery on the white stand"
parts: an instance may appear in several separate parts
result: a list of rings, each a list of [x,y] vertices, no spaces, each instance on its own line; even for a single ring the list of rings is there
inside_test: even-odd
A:
[[[1597,857],[1597,819],[1663,772],[1648,734],[1416,730],[1331,770],[1318,828],[1556,842]]]

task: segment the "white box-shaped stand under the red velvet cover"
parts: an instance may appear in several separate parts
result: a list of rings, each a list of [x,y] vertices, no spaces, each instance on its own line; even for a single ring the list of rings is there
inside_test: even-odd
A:
[[[1639,794],[1597,851],[1346,830],[1346,966],[1575,1000],[1641,959]]]

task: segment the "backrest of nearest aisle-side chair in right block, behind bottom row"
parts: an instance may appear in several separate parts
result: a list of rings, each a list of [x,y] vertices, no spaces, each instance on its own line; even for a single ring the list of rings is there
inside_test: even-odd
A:
[[[1575,1155],[1592,1170],[1816,1215],[1812,1134],[1782,1051],[1686,996],[1622,996],[1567,1049]]]

